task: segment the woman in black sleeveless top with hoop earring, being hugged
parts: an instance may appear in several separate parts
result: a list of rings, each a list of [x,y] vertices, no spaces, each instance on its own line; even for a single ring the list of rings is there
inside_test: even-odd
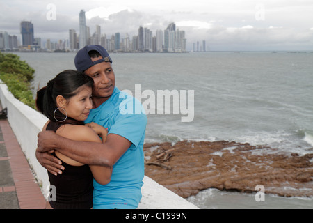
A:
[[[78,141],[105,141],[106,129],[94,130],[84,125],[92,109],[91,93],[93,79],[74,70],[65,70],[37,92],[36,107],[49,121],[43,130],[52,130],[63,137]],[[93,124],[95,125],[95,123]],[[48,171],[50,182],[47,208],[74,209],[93,207],[93,178],[98,183],[109,183],[111,169],[81,164],[61,153],[51,153],[62,161],[62,174]],[[94,175],[94,176],[93,176]]]

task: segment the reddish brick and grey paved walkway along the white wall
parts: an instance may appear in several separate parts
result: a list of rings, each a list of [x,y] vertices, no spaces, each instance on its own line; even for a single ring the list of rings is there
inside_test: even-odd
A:
[[[22,148],[8,120],[0,119],[0,209],[43,208],[45,197]]]

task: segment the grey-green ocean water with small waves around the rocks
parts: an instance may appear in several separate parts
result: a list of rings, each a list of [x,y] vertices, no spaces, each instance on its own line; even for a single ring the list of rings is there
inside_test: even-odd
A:
[[[36,70],[34,93],[58,72],[74,69],[75,54],[17,54]],[[312,52],[110,56],[116,86],[149,109],[146,142],[227,140],[271,146],[276,153],[313,153]],[[168,109],[157,99],[166,92],[172,93]],[[233,208],[262,208],[252,194],[211,189],[189,200],[200,208],[231,208],[225,194],[238,201]],[[313,208],[311,198],[266,198],[266,208]]]

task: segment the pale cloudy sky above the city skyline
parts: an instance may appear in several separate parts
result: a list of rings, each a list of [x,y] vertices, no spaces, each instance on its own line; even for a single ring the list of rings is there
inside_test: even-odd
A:
[[[35,37],[68,39],[81,9],[91,35],[97,24],[123,38],[175,22],[189,50],[202,40],[210,50],[313,50],[312,0],[0,0],[0,31],[20,38],[20,22],[31,20]]]

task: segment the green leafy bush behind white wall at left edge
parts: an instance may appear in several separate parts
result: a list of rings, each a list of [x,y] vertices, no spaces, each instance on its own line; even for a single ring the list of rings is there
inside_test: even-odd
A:
[[[21,61],[15,54],[0,52],[0,79],[8,86],[15,98],[35,109],[35,100],[31,91],[34,77],[33,68],[26,61]]]

